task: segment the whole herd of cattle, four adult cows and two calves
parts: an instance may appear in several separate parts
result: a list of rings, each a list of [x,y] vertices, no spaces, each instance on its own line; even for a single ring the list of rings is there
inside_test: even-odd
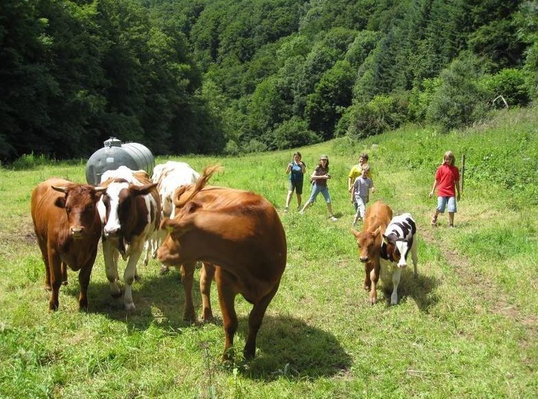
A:
[[[67,266],[80,271],[79,307],[88,308],[90,274],[101,239],[112,296],[121,296],[119,255],[127,261],[127,311],[135,309],[132,283],[145,253],[144,263],[157,257],[162,272],[169,266],[180,268],[184,319],[195,320],[193,275],[201,261],[201,318],[212,318],[210,287],[215,280],[225,334],[223,359],[229,356],[238,326],[237,294],[253,305],[244,355],[254,357],[256,335],[286,267],[286,235],[275,207],[262,196],[207,185],[217,170],[218,166],[208,167],[199,175],[184,162],[167,162],[156,166],[151,178],[121,166],[103,173],[97,187],[56,178],[38,184],[32,192],[32,220],[45,262],[45,289],[51,291],[49,309],[58,309]],[[392,210],[380,201],[367,209],[363,230],[352,230],[372,304],[379,278],[392,283],[391,303],[398,303],[400,274],[410,250],[416,276],[415,232],[410,214],[392,218]]]

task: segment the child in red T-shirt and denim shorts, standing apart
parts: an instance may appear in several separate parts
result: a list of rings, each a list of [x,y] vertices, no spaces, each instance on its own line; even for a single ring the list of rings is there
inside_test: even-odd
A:
[[[454,214],[456,213],[456,199],[460,200],[459,179],[460,172],[454,163],[456,158],[452,151],[445,152],[443,163],[435,173],[435,181],[428,198],[432,198],[435,188],[437,188],[437,208],[432,216],[432,226],[437,226],[437,216],[445,213],[448,205],[448,225],[454,227]],[[458,193],[456,196],[456,192]]]

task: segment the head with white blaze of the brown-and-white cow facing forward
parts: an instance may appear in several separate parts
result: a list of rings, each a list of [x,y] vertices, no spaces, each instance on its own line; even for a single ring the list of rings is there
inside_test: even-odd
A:
[[[101,215],[101,218],[105,223],[103,235],[117,237],[122,227],[127,227],[127,225],[138,233],[138,229],[141,229],[138,224],[147,223],[147,218],[136,217],[140,213],[138,207],[141,206],[142,210],[147,209],[145,203],[140,203],[138,198],[149,194],[156,185],[157,183],[134,185],[127,183],[125,179],[114,179],[109,183],[101,201],[104,207],[101,209],[101,212],[104,211],[104,217]]]

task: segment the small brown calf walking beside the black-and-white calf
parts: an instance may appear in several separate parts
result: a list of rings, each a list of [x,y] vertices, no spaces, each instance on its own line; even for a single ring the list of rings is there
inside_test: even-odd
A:
[[[377,283],[380,275],[380,253],[383,234],[391,222],[392,209],[376,201],[366,209],[363,230],[360,233],[352,229],[358,244],[359,259],[365,264],[364,289],[370,292],[370,303],[377,302]]]

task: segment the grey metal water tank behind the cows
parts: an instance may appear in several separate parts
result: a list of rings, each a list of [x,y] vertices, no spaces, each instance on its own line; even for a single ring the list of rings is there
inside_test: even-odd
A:
[[[88,184],[99,185],[104,172],[120,166],[127,166],[132,170],[145,170],[151,176],[155,159],[146,146],[138,143],[122,144],[121,140],[115,137],[111,137],[103,144],[104,147],[95,151],[86,163]]]

